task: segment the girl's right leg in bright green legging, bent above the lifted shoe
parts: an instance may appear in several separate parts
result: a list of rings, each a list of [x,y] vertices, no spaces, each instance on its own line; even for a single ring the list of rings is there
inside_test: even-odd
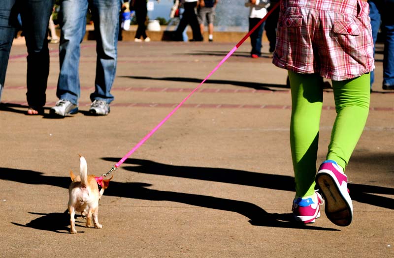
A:
[[[364,129],[369,113],[370,74],[332,81],[336,119],[328,145],[328,160],[334,160],[344,170]]]

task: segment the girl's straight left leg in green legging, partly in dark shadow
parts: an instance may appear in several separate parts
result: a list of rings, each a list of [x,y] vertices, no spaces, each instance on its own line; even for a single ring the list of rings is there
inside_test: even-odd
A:
[[[290,146],[296,196],[314,194],[320,115],[323,106],[322,77],[289,71],[292,92]]]

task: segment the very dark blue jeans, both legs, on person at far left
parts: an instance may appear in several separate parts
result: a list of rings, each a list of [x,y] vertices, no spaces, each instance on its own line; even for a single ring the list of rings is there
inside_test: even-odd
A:
[[[9,53],[22,17],[27,57],[27,101],[33,108],[41,108],[46,101],[49,74],[47,29],[53,0],[1,0],[0,8],[0,96],[4,86]]]

